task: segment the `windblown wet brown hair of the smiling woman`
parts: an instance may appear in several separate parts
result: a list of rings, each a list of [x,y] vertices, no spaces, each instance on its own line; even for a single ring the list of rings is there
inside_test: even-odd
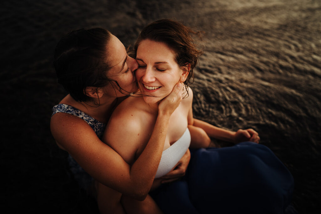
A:
[[[134,45],[134,57],[137,54],[139,44],[145,39],[165,43],[175,52],[175,61],[180,68],[187,68],[187,64],[190,64],[189,74],[186,81],[184,81],[185,88],[188,92],[187,86],[193,77],[193,69],[198,62],[198,57],[203,53],[202,50],[198,50],[195,47],[190,32],[194,31],[178,21],[169,19],[154,21],[144,27],[139,34]]]

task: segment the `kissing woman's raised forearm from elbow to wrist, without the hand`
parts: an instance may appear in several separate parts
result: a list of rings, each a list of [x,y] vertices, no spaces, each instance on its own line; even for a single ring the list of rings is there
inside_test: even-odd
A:
[[[164,148],[169,117],[168,114],[158,115],[150,140],[130,169],[133,183],[141,190],[141,199],[147,196],[152,187]]]

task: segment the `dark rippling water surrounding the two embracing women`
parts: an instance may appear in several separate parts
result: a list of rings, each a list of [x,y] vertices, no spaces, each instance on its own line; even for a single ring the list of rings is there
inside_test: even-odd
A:
[[[54,48],[65,33],[96,26],[127,47],[143,26],[171,18],[203,31],[195,117],[258,131],[294,176],[294,207],[321,213],[319,0],[4,0],[0,14],[2,210],[97,212],[50,134],[51,107],[66,95]]]

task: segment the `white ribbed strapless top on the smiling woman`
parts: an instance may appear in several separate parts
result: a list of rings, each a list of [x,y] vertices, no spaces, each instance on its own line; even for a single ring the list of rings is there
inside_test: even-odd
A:
[[[178,163],[180,158],[186,153],[189,144],[191,143],[191,134],[188,128],[175,143],[173,143],[169,148],[163,151],[160,165],[158,166],[155,178],[159,178],[172,170]]]

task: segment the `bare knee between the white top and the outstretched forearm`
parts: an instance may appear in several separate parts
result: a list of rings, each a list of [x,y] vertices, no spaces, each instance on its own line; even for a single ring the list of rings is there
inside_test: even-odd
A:
[[[190,148],[207,148],[211,143],[211,138],[206,134],[204,129],[194,125],[188,125],[191,133]]]

